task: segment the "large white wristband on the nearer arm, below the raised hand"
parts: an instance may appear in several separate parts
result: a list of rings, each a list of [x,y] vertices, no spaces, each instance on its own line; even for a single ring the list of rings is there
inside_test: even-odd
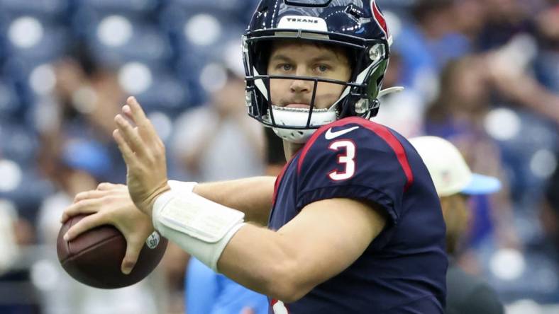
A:
[[[153,226],[200,262],[218,272],[229,240],[245,225],[245,214],[193,192],[165,192],[153,204]]]

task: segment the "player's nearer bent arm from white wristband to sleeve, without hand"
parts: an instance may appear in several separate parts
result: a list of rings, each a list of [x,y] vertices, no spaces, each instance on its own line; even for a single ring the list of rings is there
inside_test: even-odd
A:
[[[153,206],[162,236],[214,271],[287,303],[355,262],[386,223],[380,209],[352,199],[309,204],[277,231],[243,218],[195,193],[165,192]]]

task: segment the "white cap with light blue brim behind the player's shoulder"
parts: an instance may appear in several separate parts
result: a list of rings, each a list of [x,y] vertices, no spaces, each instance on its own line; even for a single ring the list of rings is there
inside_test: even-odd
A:
[[[409,140],[423,159],[439,197],[452,194],[490,194],[501,189],[497,178],[472,173],[460,151],[436,136]]]

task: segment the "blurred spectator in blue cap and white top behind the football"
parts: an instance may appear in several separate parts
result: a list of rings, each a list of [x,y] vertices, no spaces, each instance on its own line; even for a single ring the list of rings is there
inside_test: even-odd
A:
[[[58,160],[60,163],[55,170],[58,176],[54,180],[59,190],[45,199],[38,218],[41,243],[48,248],[56,247],[63,209],[72,204],[78,192],[94,190],[99,184],[99,175],[110,163],[103,146],[82,140],[63,144]],[[50,279],[38,283],[45,314],[160,313],[155,296],[161,287],[152,286],[149,280],[114,291],[94,289],[65,274],[54,249],[48,250],[37,264],[43,269],[42,275]]]

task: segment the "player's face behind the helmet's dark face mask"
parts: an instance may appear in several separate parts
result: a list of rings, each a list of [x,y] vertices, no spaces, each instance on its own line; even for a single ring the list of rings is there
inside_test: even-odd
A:
[[[348,81],[351,76],[350,62],[343,50],[310,42],[277,41],[272,45],[268,75],[312,76],[319,79]],[[345,86],[319,82],[314,107],[328,108],[340,98]],[[272,104],[279,107],[309,108],[314,81],[295,79],[271,79]]]

